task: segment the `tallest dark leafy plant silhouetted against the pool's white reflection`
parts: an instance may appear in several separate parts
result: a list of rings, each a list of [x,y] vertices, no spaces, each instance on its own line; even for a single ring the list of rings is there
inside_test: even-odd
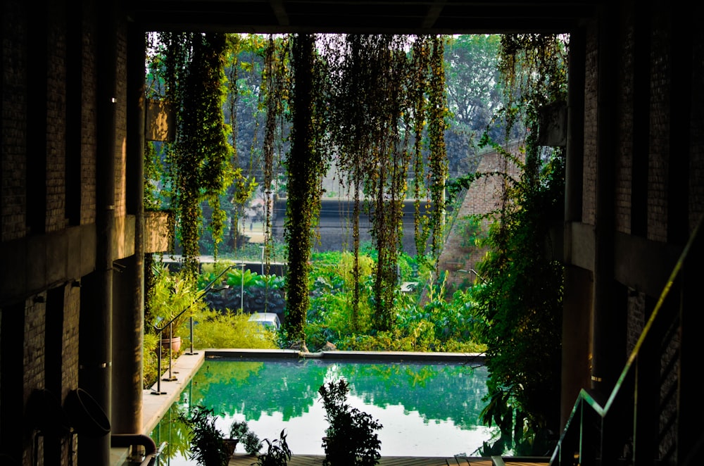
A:
[[[323,384],[318,390],[329,426],[323,441],[325,466],[376,465],[381,458],[377,420],[347,403],[349,387],[344,379]]]

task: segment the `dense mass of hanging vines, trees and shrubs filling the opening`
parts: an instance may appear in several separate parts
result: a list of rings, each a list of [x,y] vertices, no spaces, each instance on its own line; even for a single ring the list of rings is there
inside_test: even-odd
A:
[[[553,260],[548,225],[562,213],[565,154],[541,146],[539,121],[543,108],[565,99],[565,38],[336,36],[325,42],[301,34],[251,39],[249,48],[218,34],[163,34],[161,40],[163,66],[156,62],[153,69],[162,70],[156,75],[167,89],[163,95],[177,103],[179,137],[162,152],[148,152],[166,168],[161,194],[152,193],[148,201],[151,206],[171,196],[187,272],[195,274],[201,253],[204,203],[211,214],[209,246],[217,253],[227,225],[237,238],[237,215],[257,183],[266,199],[268,263],[276,245],[267,209],[272,193],[285,186],[279,192],[289,196],[282,251],[287,307],[277,343],[301,341],[312,349],[327,343],[360,350],[486,349],[491,379],[484,420],[505,434],[496,448],[545,453],[559,422],[562,312],[562,269]],[[207,84],[203,89],[193,84],[199,80]],[[253,92],[256,88],[261,90]],[[257,136],[258,122],[251,123],[250,168],[255,158],[262,160],[257,180],[244,177],[237,166],[245,158],[232,128],[242,125],[244,100],[256,121],[260,112],[265,117],[263,138]],[[203,148],[202,141],[211,142]],[[467,160],[484,146],[503,154],[505,170],[474,172]],[[460,156],[451,158],[450,150]],[[281,180],[275,177],[275,158],[284,153]],[[348,253],[316,256],[311,246],[321,180],[332,163],[344,184],[341,191],[354,199],[354,242]],[[472,235],[465,246],[479,241],[488,252],[474,286],[446,296],[444,275],[434,267],[444,239],[448,168],[460,166],[467,175],[451,188],[498,176],[503,199],[484,218],[461,219]],[[160,173],[151,166],[146,172]],[[407,196],[415,198],[414,258],[399,248],[400,206]],[[223,199],[233,206],[227,214],[232,221]],[[424,203],[434,210],[425,210]],[[372,218],[369,251],[359,241],[362,210]],[[491,227],[485,236],[479,226],[486,222]],[[256,277],[241,274],[239,280],[241,285]],[[404,293],[403,282],[421,285]],[[196,335],[225,332],[227,338],[196,339],[206,346],[273,344],[270,335],[247,334],[246,325],[239,325],[244,318],[237,310],[204,313]]]

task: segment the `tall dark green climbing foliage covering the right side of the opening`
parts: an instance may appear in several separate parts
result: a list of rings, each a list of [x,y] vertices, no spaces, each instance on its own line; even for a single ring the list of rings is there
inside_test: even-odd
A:
[[[539,108],[565,99],[565,43],[516,34],[502,37],[501,49],[507,127],[521,122],[531,131],[523,160],[503,151],[520,177],[501,174],[504,199],[484,242],[483,281],[472,291],[491,374],[483,419],[501,427],[502,443],[511,441],[513,427],[517,453],[543,454],[546,433],[560,422],[562,266],[552,258],[548,227],[561,218],[565,154],[541,148],[537,129]],[[489,137],[483,142],[494,144]]]

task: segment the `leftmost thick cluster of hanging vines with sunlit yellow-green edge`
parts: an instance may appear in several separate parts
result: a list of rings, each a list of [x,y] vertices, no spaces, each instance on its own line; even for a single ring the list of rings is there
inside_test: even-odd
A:
[[[225,66],[237,42],[219,33],[162,32],[157,37],[155,63],[161,66],[153,70],[163,80],[163,97],[176,115],[175,141],[165,144],[163,186],[175,211],[184,270],[194,275],[204,228],[203,203],[211,210],[208,229],[217,256],[227,220],[223,196],[234,181],[246,185],[233,161],[232,125],[225,123],[223,113],[228,88]],[[229,64],[232,78],[237,67]],[[231,117],[236,121],[236,112]]]

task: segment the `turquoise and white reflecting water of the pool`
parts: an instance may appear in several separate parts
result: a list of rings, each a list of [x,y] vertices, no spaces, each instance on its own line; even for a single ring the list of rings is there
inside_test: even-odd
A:
[[[486,367],[445,363],[206,360],[151,436],[169,443],[169,465],[191,464],[177,413],[205,405],[224,433],[233,420],[246,420],[262,440],[285,429],[294,455],[323,455],[327,421],[318,389],[345,379],[348,403],[382,424],[382,455],[471,455],[498,436],[479,422],[486,377]]]

